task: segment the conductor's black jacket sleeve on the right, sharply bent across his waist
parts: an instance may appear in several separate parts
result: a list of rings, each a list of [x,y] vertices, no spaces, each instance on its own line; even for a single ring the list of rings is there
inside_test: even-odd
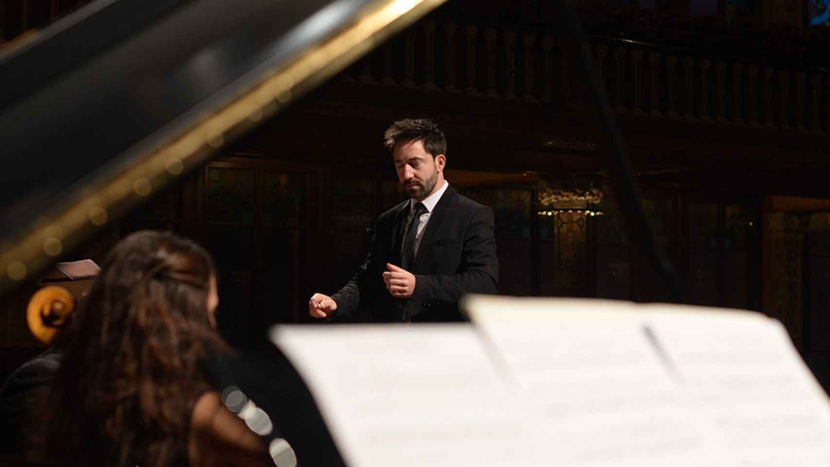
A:
[[[461,295],[496,294],[499,260],[493,212],[481,207],[471,216],[461,245],[461,265],[455,275],[415,275],[414,302],[457,303]]]

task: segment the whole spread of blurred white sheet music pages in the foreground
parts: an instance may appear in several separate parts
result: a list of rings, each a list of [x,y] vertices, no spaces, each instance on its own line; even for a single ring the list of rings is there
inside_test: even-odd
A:
[[[830,401],[777,321],[590,299],[462,305],[475,328],[276,328],[349,465],[830,465]]]

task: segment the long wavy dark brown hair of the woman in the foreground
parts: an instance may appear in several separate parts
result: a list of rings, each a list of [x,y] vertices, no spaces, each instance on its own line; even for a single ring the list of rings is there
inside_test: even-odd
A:
[[[227,348],[210,325],[215,271],[200,246],[139,231],[115,246],[61,345],[41,404],[41,453],[61,465],[187,462],[203,360]]]

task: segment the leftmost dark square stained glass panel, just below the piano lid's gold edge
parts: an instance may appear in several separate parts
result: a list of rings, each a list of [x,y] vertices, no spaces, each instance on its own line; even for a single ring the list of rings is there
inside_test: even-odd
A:
[[[254,219],[254,172],[207,169],[207,220],[251,225]]]

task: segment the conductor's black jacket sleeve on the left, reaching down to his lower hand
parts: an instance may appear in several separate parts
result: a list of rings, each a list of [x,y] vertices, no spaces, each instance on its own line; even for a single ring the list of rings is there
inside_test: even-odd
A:
[[[372,304],[378,298],[378,292],[385,289],[382,276],[383,265],[378,265],[378,258],[380,257],[378,253],[378,228],[381,223],[380,219],[375,222],[372,241],[369,243],[369,254],[366,255],[364,264],[360,265],[348,284],[331,296],[331,299],[337,304],[334,319],[353,318],[357,310]]]

